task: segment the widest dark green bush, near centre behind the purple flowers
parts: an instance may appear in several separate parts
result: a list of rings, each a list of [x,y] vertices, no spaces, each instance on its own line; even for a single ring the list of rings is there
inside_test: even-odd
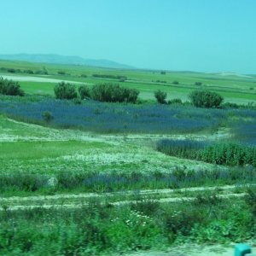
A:
[[[90,97],[99,102],[137,101],[138,90],[120,87],[119,84],[96,84],[90,90]]]

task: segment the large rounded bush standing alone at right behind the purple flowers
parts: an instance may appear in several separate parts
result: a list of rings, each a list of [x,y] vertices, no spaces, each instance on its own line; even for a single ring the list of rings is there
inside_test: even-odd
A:
[[[189,95],[192,104],[198,108],[218,108],[224,98],[209,90],[194,90]]]

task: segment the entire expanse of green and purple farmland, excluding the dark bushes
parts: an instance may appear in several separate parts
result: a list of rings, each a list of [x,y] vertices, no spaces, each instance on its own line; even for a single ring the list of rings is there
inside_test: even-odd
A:
[[[256,242],[255,76],[0,61],[2,75],[26,95],[0,96],[1,255]],[[62,80],[139,100],[55,99]],[[159,89],[182,103],[157,103]],[[236,104],[195,108],[195,89]]]

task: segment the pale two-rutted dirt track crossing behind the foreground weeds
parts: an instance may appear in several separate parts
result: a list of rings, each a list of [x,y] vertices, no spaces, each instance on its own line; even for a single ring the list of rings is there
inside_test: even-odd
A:
[[[255,185],[255,184],[253,184]],[[246,185],[245,185],[246,186]],[[243,187],[245,187],[243,186]],[[189,189],[156,189],[156,190],[143,190],[139,195],[143,196],[143,199],[136,200],[123,200],[119,195],[132,195],[133,191],[127,192],[116,192],[116,193],[87,193],[87,194],[65,194],[65,195],[39,195],[39,196],[30,196],[30,197],[9,197],[9,198],[0,198],[0,210],[10,210],[16,211],[20,209],[31,209],[31,208],[80,208],[84,205],[88,205],[88,200],[93,200],[96,198],[102,198],[104,202],[105,199],[109,199],[108,204],[112,206],[120,206],[125,204],[137,203],[142,200],[152,200],[158,201],[160,203],[174,203],[177,201],[194,201],[195,196],[179,196],[172,195],[172,193],[184,193],[184,192],[196,192],[196,191],[207,191],[218,189],[223,191],[224,194],[218,195],[219,198],[231,198],[231,197],[242,197],[245,193],[230,191],[231,189],[236,189],[236,186],[223,186],[223,187],[200,187],[200,188],[189,188]],[[170,195],[169,195],[170,194]],[[152,195],[157,195],[155,198],[152,198]],[[116,198],[114,196],[117,196]]]

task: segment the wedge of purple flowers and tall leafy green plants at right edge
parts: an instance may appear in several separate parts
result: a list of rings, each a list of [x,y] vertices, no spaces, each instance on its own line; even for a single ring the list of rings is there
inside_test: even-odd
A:
[[[157,150],[165,154],[202,160],[207,163],[226,166],[256,166],[256,147],[236,143],[214,143],[193,140],[161,140]]]

